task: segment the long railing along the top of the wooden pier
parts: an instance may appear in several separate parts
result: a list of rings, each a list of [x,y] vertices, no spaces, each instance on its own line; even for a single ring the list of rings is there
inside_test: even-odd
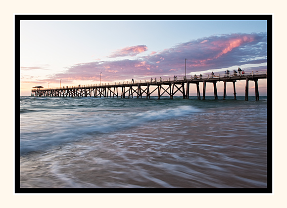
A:
[[[134,81],[124,81],[124,82],[113,82],[113,83],[98,83],[98,84],[85,84],[85,85],[74,85],[74,86],[62,86],[62,87],[50,87],[50,88],[41,88],[41,90],[57,90],[57,89],[75,89],[83,87],[113,87],[120,86],[125,84],[135,84],[135,83],[166,83],[166,82],[179,82],[179,81],[194,81],[200,79],[212,79],[212,78],[224,78],[224,77],[244,77],[250,75],[267,75],[267,70],[258,70],[258,71],[242,71],[236,73],[234,71],[229,71],[227,73],[213,73],[210,74],[199,74],[199,75],[189,75],[187,77],[164,77],[164,78],[154,78],[154,79],[145,79],[145,80],[134,80]],[[39,91],[39,88],[34,88],[32,91]]]

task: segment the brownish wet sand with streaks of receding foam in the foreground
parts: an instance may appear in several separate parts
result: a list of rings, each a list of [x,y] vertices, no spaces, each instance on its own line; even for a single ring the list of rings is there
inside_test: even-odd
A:
[[[31,153],[20,158],[21,188],[266,188],[267,121],[242,111],[154,121]]]

